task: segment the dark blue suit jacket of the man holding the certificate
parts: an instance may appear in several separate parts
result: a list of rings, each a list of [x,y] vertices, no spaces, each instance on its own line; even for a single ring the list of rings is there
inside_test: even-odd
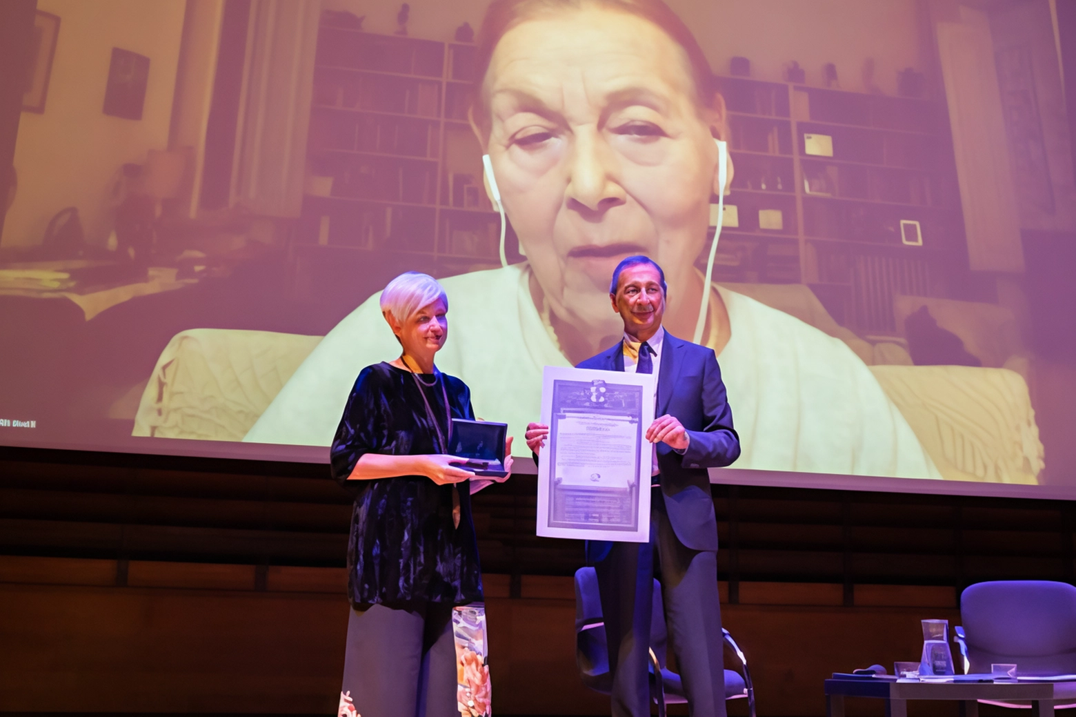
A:
[[[579,364],[578,368],[624,370],[623,341]],[[657,444],[657,467],[669,522],[677,538],[692,550],[718,549],[707,468],[726,466],[739,458],[739,436],[725,399],[725,384],[712,349],[684,341],[665,332],[657,375],[656,417],[674,416],[691,437],[681,455],[668,444]],[[591,540],[586,558],[605,558],[612,544]]]

